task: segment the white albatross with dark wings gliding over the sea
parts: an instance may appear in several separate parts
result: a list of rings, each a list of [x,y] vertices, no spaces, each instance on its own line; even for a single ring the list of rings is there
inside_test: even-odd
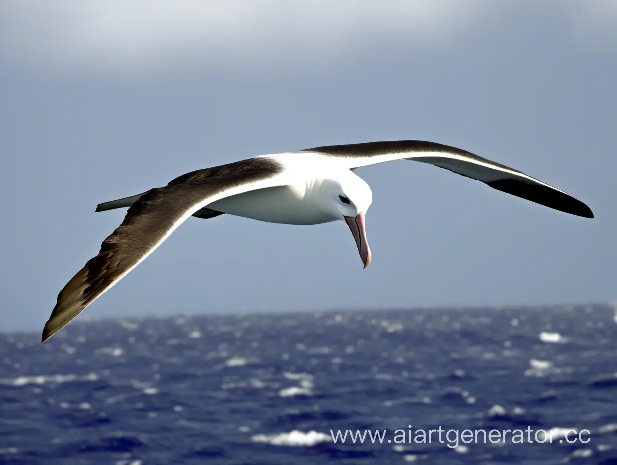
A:
[[[295,225],[342,220],[366,267],[371,251],[364,219],[373,196],[354,170],[401,159],[435,165],[555,210],[594,217],[586,204],[564,191],[465,150],[433,142],[370,142],[257,156],[193,171],[167,186],[99,204],[97,212],[130,208],[122,224],[102,242],[99,253],[60,291],[42,341],[122,279],[190,216],[209,219],[231,214]]]

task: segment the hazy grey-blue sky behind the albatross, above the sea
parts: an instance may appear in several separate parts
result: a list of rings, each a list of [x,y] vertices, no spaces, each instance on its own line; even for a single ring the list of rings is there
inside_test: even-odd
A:
[[[40,330],[125,211],[259,154],[428,140],[587,203],[569,216],[430,165],[357,170],[346,225],[191,218],[79,318],[617,297],[617,1],[0,3],[0,330]]]

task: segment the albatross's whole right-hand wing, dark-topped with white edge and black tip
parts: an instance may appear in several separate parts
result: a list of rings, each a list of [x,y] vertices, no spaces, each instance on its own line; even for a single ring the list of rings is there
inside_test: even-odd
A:
[[[315,147],[304,152],[341,157],[346,165],[349,165],[349,169],[401,159],[429,163],[555,210],[586,218],[594,217],[586,204],[562,190],[468,151],[434,142],[418,140],[368,142]]]

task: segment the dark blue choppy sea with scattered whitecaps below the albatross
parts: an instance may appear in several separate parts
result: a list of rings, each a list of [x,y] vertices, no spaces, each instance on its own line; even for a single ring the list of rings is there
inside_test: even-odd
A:
[[[476,431],[526,429],[523,443]],[[354,443],[357,430],[386,432]],[[472,442],[457,444],[463,430]],[[4,333],[0,463],[615,464],[617,315],[77,318],[44,344]]]

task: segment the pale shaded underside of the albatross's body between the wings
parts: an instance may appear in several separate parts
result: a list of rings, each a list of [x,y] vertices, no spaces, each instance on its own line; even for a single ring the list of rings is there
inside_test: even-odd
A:
[[[271,187],[216,201],[207,208],[268,223],[310,225],[336,221],[289,187]]]

